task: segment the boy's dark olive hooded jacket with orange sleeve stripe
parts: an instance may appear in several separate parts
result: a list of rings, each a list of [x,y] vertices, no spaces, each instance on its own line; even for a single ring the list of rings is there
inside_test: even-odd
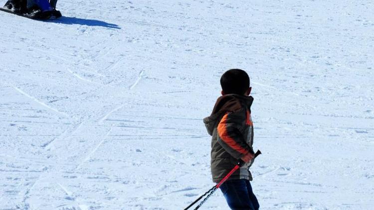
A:
[[[229,94],[217,99],[204,124],[211,139],[211,174],[213,182],[223,179],[239,159],[253,152],[253,123],[251,105],[253,97]],[[244,164],[229,179],[252,180],[251,162]]]

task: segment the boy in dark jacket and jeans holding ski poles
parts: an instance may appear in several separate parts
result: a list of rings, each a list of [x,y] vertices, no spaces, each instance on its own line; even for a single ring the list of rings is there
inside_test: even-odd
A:
[[[217,99],[211,115],[204,118],[212,136],[213,182],[222,180],[241,159],[245,164],[220,189],[232,210],[258,210],[259,204],[249,182],[252,181],[249,167],[254,160],[249,77],[243,70],[230,69],[222,75],[220,83],[222,96]]]

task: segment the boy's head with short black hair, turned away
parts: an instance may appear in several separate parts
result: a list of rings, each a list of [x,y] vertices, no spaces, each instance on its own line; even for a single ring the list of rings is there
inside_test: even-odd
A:
[[[241,69],[230,69],[221,77],[222,95],[237,94],[249,96],[251,87],[249,87],[249,76]]]

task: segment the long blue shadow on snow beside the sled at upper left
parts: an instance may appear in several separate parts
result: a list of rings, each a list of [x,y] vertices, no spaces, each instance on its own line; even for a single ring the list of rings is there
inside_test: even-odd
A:
[[[102,27],[107,27],[107,28],[116,28],[116,29],[121,29],[119,25],[112,24],[112,23],[107,23],[101,20],[92,20],[92,19],[82,19],[78,17],[65,17],[62,16],[56,20],[53,20],[53,22],[56,23],[62,23],[62,24],[79,24],[79,25],[88,25],[88,26],[102,26]]]

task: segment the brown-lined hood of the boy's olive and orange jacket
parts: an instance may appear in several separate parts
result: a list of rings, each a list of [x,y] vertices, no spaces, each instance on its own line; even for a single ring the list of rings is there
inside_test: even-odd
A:
[[[233,112],[247,107],[250,109],[253,103],[253,97],[251,96],[240,96],[236,94],[223,95],[217,99],[214,105],[213,111],[210,116],[204,118],[204,124],[209,135],[213,134],[213,130],[216,127],[217,121],[226,112]]]

